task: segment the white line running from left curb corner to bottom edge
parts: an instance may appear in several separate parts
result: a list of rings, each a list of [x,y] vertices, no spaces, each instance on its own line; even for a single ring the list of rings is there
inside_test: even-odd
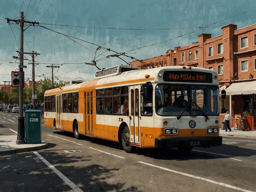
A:
[[[59,178],[61,178],[67,185],[69,185],[69,187],[71,187],[72,190],[74,190],[75,192],[82,192],[82,190],[75,185],[75,183],[73,183],[69,178],[67,178],[66,176],[64,176],[64,174],[62,174],[57,168],[55,168],[52,164],[50,164],[45,158],[43,158],[42,155],[40,155],[39,153],[37,153],[36,151],[33,151],[33,153],[35,155],[37,155],[37,157],[44,162],[50,169],[53,170],[53,172],[55,174],[57,174],[57,176],[59,176]]]

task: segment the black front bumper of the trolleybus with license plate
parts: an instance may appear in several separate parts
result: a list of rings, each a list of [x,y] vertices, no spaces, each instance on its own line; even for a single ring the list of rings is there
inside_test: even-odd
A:
[[[155,138],[155,147],[211,147],[221,146],[222,137]]]

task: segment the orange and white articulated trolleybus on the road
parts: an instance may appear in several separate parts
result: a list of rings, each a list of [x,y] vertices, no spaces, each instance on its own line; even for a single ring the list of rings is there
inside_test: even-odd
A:
[[[222,145],[215,71],[188,66],[114,66],[95,79],[45,91],[44,124],[132,147]]]

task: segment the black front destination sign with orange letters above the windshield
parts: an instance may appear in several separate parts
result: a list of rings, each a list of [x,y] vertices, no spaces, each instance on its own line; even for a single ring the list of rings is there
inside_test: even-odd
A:
[[[165,71],[163,80],[167,82],[213,82],[211,73],[198,71]]]

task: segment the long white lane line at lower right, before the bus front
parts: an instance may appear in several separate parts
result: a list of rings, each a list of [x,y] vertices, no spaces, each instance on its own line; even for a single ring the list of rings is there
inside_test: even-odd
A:
[[[221,186],[228,187],[228,188],[231,188],[231,189],[240,190],[240,191],[244,191],[244,192],[253,192],[253,191],[245,190],[245,189],[242,189],[240,187],[235,187],[233,185],[229,185],[229,184],[226,184],[226,183],[221,183],[221,182],[218,182],[218,181],[213,181],[211,179],[207,179],[207,178],[203,178],[203,177],[199,177],[199,176],[195,176],[195,175],[191,175],[191,174],[186,174],[186,173],[183,173],[183,172],[180,172],[180,171],[175,171],[175,170],[168,169],[168,168],[165,168],[165,167],[160,167],[160,166],[153,165],[153,164],[150,164],[150,163],[146,163],[146,162],[143,162],[143,161],[138,161],[138,162],[142,163],[144,165],[149,165],[151,167],[155,167],[155,168],[162,169],[162,170],[165,170],[165,171],[170,171],[170,172],[173,172],[173,173],[176,173],[176,174],[181,174],[181,175],[184,175],[184,176],[187,176],[187,177],[200,179],[200,180],[203,180],[203,181],[207,181],[209,183],[221,185]]]

